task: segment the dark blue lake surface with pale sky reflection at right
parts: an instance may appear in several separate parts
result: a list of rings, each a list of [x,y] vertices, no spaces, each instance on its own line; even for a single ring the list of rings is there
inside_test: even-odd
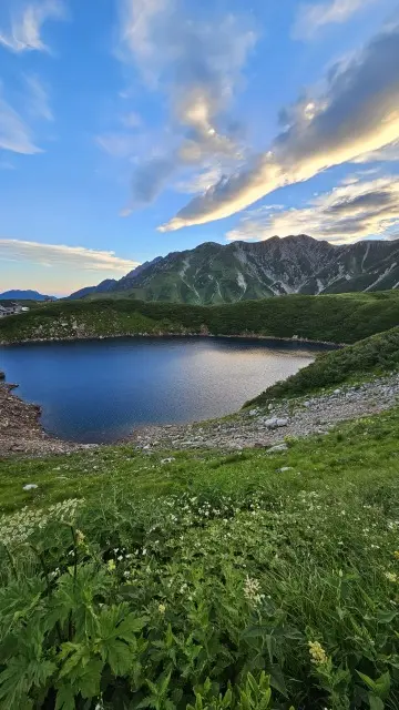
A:
[[[0,347],[17,394],[61,438],[111,443],[144,424],[207,419],[313,362],[320,347],[242,338],[143,337]]]

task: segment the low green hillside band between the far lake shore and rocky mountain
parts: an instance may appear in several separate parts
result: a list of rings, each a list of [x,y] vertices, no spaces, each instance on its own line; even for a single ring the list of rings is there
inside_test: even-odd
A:
[[[136,334],[298,336],[355,343],[399,324],[399,292],[280,296],[218,306],[63,301],[0,321],[0,342]]]

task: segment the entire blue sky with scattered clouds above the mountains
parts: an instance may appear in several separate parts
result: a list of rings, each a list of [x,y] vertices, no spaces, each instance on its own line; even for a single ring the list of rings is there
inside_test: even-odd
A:
[[[399,239],[395,0],[1,0],[0,293]]]

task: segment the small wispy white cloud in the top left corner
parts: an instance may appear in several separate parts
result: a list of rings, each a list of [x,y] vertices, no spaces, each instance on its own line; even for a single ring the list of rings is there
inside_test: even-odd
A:
[[[6,0],[4,6],[9,8],[10,27],[7,31],[0,30],[0,44],[13,52],[49,51],[41,37],[42,27],[49,20],[62,20],[65,17],[63,1]]]

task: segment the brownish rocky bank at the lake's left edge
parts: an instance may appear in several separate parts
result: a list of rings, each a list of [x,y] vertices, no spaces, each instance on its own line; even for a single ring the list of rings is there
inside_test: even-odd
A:
[[[11,454],[50,456],[88,448],[47,434],[39,420],[40,407],[17,397],[16,387],[0,383],[0,458]]]

